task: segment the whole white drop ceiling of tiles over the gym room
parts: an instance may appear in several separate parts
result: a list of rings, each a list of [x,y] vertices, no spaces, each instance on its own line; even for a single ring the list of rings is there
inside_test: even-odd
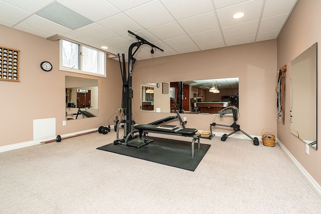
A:
[[[137,41],[129,30],[164,50],[151,54],[143,45],[134,57],[144,60],[276,39],[296,1],[0,0],[0,24],[43,38],[60,35],[98,49],[107,46],[104,51],[126,57]],[[59,21],[43,15],[54,6],[63,8]],[[237,12],[245,16],[233,19]]]

